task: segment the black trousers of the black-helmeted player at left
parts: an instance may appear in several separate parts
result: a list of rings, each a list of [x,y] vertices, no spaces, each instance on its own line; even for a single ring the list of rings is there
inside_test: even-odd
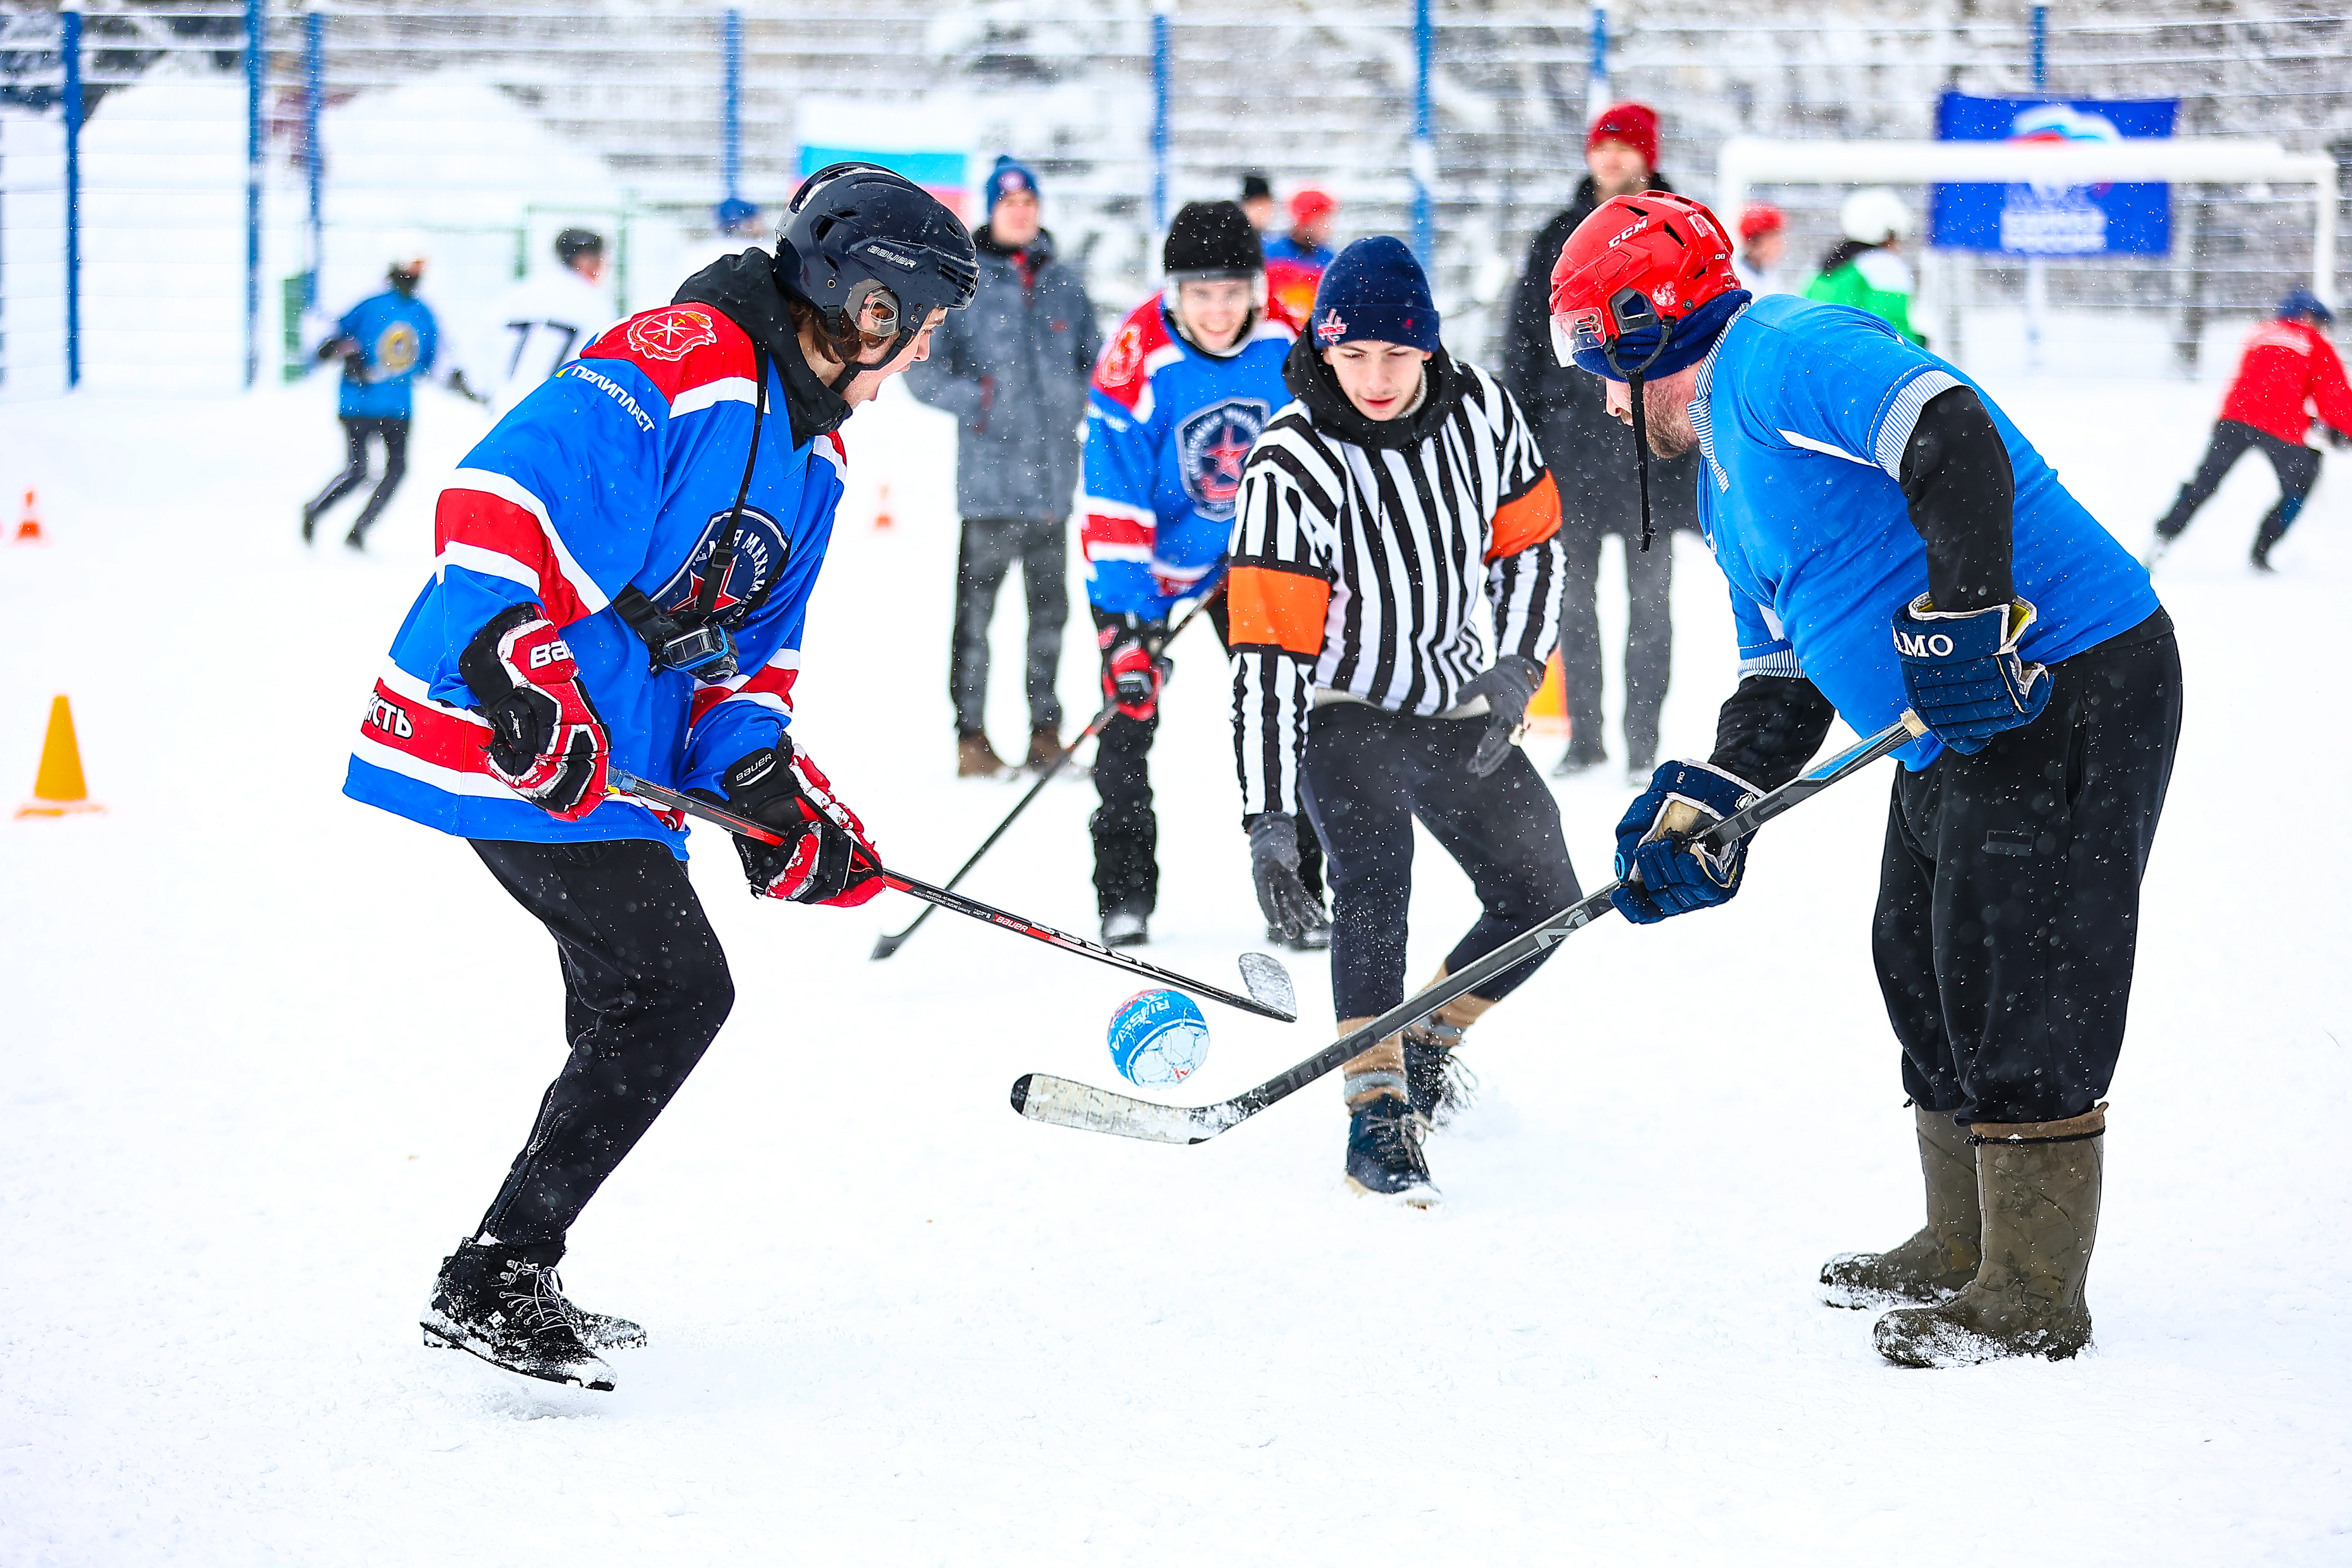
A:
[[[572,1056],[480,1234],[555,1262],[564,1232],[670,1103],[734,1006],[727,954],[666,844],[473,839],[555,938]]]

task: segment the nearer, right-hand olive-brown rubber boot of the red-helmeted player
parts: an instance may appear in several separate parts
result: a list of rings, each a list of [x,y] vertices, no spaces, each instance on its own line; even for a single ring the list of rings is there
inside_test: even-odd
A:
[[[2107,1105],[2065,1121],[1978,1121],[1971,1133],[1985,1262],[1950,1302],[1889,1312],[1872,1338],[1896,1366],[2065,1361],[2091,1342],[2084,1281],[2098,1241]]]

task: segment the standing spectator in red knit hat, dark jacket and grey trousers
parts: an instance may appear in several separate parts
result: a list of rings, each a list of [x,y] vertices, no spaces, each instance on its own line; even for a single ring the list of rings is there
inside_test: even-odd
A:
[[[1559,672],[1569,696],[1569,750],[1555,776],[1583,773],[1609,759],[1602,745],[1602,538],[1625,538],[1625,762],[1628,778],[1649,780],[1658,762],[1658,715],[1672,672],[1675,541],[1668,529],[1698,529],[1698,456],[1653,461],[1649,498],[1661,536],[1649,550],[1635,494],[1632,433],[1609,418],[1599,378],[1562,369],[1552,357],[1552,263],[1576,226],[1613,195],[1672,190],[1658,174],[1658,113],[1613,103],[1585,132],[1585,179],[1569,209],[1543,226],[1526,249],[1526,273],[1512,294],[1503,334],[1503,383],[1536,425],[1536,442],[1559,484],[1562,607]]]

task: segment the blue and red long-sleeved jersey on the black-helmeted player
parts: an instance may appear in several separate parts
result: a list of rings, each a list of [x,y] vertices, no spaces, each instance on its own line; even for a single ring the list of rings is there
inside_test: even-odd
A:
[[[614,766],[673,790],[717,790],[727,764],[774,745],[793,719],[809,590],[844,468],[837,435],[793,444],[774,364],[717,597],[741,672],[706,684],[654,670],[612,609],[630,585],[663,609],[684,609],[701,590],[743,482],[753,367],[753,341],[724,313],[647,310],[604,329],[466,454],[440,494],[433,581],[393,639],[346,795],[468,839],[661,839],[684,858],[682,823],[644,806],[607,799],[562,823],[499,783],[485,769],[489,726],[456,661],[485,621],[534,602],[564,628],[612,729]]]

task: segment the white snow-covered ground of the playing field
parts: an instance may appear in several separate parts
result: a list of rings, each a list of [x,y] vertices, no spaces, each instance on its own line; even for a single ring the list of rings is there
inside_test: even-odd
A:
[[[1994,390],[2133,548],[2218,400]],[[108,806],[0,823],[0,1563],[2352,1559],[2343,475],[2279,578],[2244,567],[2253,463],[2159,578],[2190,717],[2079,1361],[1893,1371],[1816,1305],[1828,1253],[1919,1215],[1865,945],[1882,769],[1729,910],[1602,922],[1482,1025],[1437,1213],[1348,1197],[1331,1086],[1195,1150],[1023,1124],[1018,1072],[1110,1081],[1129,983],[946,914],[873,966],[913,905],[755,905],[699,835],[741,1001],[574,1232],[574,1295],[654,1333],[597,1396],[419,1345],[560,985],[463,844],[339,795],[477,416],[428,397],[355,559],[296,543],[329,397],[0,409],[0,496],[38,484],[54,536],[0,550],[0,785],[68,691]],[[946,428],[894,397],[849,447],[804,733],[943,877],[1014,799],[950,778]],[[1668,748],[1703,752],[1731,639],[1677,555]],[[1148,950],[1214,980],[1261,936],[1223,686],[1178,649]],[[1588,882],[1625,797],[1559,788]],[[1091,929],[1089,804],[1049,790],[971,891]],[[1468,912],[1428,853],[1416,971]],[[1197,1098],[1327,1039],[1296,973],[1296,1027],[1211,1009]]]

